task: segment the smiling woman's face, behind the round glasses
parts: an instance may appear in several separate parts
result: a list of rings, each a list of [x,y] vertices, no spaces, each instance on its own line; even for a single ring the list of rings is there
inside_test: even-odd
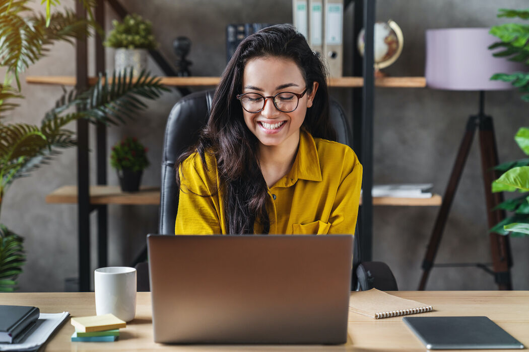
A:
[[[252,59],[246,64],[242,87],[241,94],[259,93],[263,97],[270,97],[280,92],[301,94],[306,85],[303,74],[294,61],[266,57]],[[317,88],[318,83],[314,82],[312,92],[307,91],[292,112],[279,111],[271,98],[265,100],[265,108],[260,112],[242,110],[246,126],[257,137],[261,146],[292,145],[297,148],[299,128],[305,120],[307,108],[312,106]]]

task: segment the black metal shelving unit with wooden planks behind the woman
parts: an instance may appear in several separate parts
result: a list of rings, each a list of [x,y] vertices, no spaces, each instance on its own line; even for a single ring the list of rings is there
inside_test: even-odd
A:
[[[350,88],[352,91],[353,119],[353,149],[363,165],[363,202],[359,211],[359,231],[362,233],[362,259],[370,261],[372,256],[372,206],[437,206],[441,204],[441,197],[432,198],[387,198],[372,197],[373,185],[373,99],[375,87],[387,88],[424,88],[424,77],[374,77],[373,72],[373,32],[375,23],[376,0],[344,0],[344,8],[353,4],[353,38],[358,37],[362,27],[366,27],[365,55],[362,58],[357,50],[353,50],[353,77],[330,79],[330,87]],[[106,2],[123,18],[127,12],[117,0],[96,0],[96,21],[103,25],[104,6]],[[76,3],[76,14],[85,18],[86,13],[80,2]],[[175,87],[181,94],[189,93],[187,87],[213,87],[218,84],[218,77],[176,77],[175,71],[160,55],[151,50],[152,59],[158,64],[166,77],[161,77],[161,83]],[[105,55],[101,38],[96,35],[95,40],[95,72],[105,72]],[[88,77],[87,44],[86,41],[76,40],[76,75],[74,76],[30,76],[28,83],[75,85],[77,89],[86,89],[95,84],[97,77]],[[160,191],[157,187],[145,187],[136,194],[124,194],[117,186],[108,186],[106,179],[106,127],[97,126],[97,185],[90,186],[88,179],[88,122],[77,121],[78,154],[77,154],[77,186],[63,186],[46,197],[48,203],[78,204],[78,251],[79,251],[79,290],[88,291],[90,283],[90,212],[97,211],[98,233],[98,265],[106,266],[107,262],[107,205],[108,204],[152,204],[158,205]]]

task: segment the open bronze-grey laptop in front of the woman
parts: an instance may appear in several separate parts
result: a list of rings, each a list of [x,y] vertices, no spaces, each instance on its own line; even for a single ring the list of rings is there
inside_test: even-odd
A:
[[[148,235],[154,341],[344,344],[351,235]]]

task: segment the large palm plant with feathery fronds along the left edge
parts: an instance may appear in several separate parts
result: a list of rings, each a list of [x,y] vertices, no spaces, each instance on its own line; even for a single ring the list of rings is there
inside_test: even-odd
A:
[[[74,44],[76,37],[89,35],[88,27],[98,28],[92,21],[93,2],[83,3],[91,20],[77,18],[70,10],[50,12],[57,2],[47,1],[47,14],[29,9],[30,0],[0,0],[0,65],[6,69],[4,84],[0,83],[0,210],[4,195],[13,182],[29,176],[39,167],[49,164],[62,148],[76,145],[75,132],[65,126],[76,119],[90,122],[117,124],[135,112],[147,108],[138,97],[157,99],[167,88],[160,80],[142,73],[133,80],[132,72],[114,73],[112,80],[100,74],[97,83],[86,91],[66,91],[55,107],[44,113],[40,125],[28,123],[3,123],[4,113],[19,104],[13,99],[23,99],[19,74],[38,61],[56,41]],[[17,88],[11,87],[15,79]],[[72,107],[77,107],[71,112]],[[0,223],[0,291],[16,289],[17,276],[25,262],[23,237]]]

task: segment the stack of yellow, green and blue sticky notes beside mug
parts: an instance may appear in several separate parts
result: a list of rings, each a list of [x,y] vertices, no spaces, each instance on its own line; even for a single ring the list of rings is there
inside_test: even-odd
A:
[[[112,314],[71,318],[71,325],[75,327],[71,340],[82,342],[115,341],[120,336],[119,329],[126,327],[123,320]]]

